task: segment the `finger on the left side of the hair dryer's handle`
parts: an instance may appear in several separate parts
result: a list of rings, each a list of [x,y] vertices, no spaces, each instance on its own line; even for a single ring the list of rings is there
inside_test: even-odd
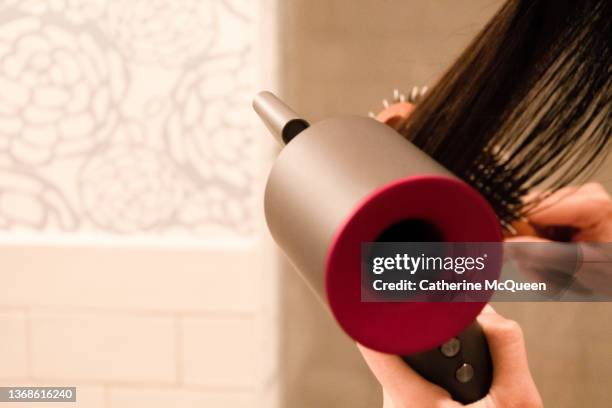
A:
[[[433,401],[450,398],[448,392],[421,377],[399,356],[381,353],[361,344],[357,344],[357,348],[391,399]]]

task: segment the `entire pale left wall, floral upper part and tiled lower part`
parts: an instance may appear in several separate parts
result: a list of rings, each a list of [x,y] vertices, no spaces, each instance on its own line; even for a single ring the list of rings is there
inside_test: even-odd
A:
[[[0,0],[0,386],[275,406],[275,4]]]

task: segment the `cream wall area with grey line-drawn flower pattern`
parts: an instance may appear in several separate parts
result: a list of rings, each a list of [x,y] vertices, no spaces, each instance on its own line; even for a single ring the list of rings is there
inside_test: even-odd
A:
[[[247,0],[0,0],[0,232],[248,237]]]

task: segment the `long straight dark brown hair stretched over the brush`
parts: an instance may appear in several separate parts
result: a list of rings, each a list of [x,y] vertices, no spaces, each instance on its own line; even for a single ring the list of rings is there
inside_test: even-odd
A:
[[[478,189],[503,224],[610,145],[608,0],[509,0],[400,129]]]

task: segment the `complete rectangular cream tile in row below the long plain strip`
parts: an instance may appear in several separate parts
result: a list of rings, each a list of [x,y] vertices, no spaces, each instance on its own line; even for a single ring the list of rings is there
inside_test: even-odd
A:
[[[108,382],[174,382],[176,325],[169,317],[32,312],[32,374]]]

